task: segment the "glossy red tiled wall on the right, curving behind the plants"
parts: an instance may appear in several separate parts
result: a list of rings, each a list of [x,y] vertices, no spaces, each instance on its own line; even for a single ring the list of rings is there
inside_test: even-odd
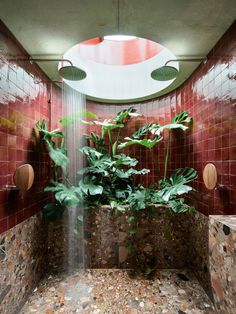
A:
[[[147,121],[169,123],[182,109],[194,119],[191,131],[172,137],[170,171],[177,167],[193,167],[198,179],[193,184],[196,193],[190,201],[206,215],[236,214],[236,23],[224,34],[201,65],[177,90],[163,97],[133,104],[144,114],[129,122],[130,135],[139,124]],[[104,104],[87,101],[87,110],[109,118],[130,104]],[[163,176],[165,143],[157,145],[151,154],[145,148],[133,146],[129,152],[141,167],[151,169],[142,183],[148,185]],[[209,191],[203,184],[202,171],[214,163],[218,172],[218,188]]]

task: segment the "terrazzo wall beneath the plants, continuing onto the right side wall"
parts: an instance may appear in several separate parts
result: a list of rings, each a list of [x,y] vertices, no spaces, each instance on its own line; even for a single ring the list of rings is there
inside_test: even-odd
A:
[[[199,212],[168,215],[165,209],[157,208],[153,216],[141,217],[135,235],[129,234],[130,227],[125,215],[114,215],[109,206],[99,209],[91,207],[84,220],[84,240],[72,236],[74,255],[84,251],[83,262],[87,268],[187,267],[213,299],[209,272],[208,217]],[[64,261],[68,260],[67,243],[68,218],[49,226],[51,269],[61,270],[65,266]],[[81,259],[77,256],[74,258],[75,268],[79,264]]]

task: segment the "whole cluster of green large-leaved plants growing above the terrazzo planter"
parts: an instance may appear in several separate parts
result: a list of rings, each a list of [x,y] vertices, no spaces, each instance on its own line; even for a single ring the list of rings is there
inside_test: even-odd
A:
[[[80,179],[75,186],[67,177],[69,159],[64,133],[59,129],[49,131],[45,121],[36,124],[54,164],[53,180],[45,188],[45,192],[52,192],[55,196],[55,203],[44,207],[44,214],[49,220],[60,217],[68,206],[82,203],[86,206],[110,204],[114,211],[128,213],[128,222],[133,224],[130,232],[135,233],[135,223],[143,210],[149,209],[151,213],[155,206],[163,206],[174,213],[193,210],[185,204],[183,196],[193,190],[188,183],[196,179],[196,171],[192,168],[179,168],[167,177],[171,133],[176,129],[186,131],[192,121],[186,111],[178,113],[170,124],[162,126],[159,123],[146,123],[130,137],[125,137],[123,142],[121,130],[126,127],[129,119],[140,116],[133,107],[122,110],[113,119],[104,121],[100,121],[92,113],[85,116],[89,120],[82,122],[89,124],[91,128],[93,125],[100,126],[101,132],[97,134],[92,131],[85,135],[88,145],[82,147],[79,152],[86,157],[87,165],[78,169]],[[77,119],[77,116],[63,117],[61,123],[66,126]],[[130,145],[141,145],[152,150],[164,140],[165,130],[168,136],[163,178],[149,188],[137,185],[136,177],[146,175],[149,169],[136,169],[138,160],[120,150]]]

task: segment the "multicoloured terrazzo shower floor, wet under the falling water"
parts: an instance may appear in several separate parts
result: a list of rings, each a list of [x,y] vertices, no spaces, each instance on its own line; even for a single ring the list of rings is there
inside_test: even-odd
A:
[[[213,306],[188,271],[158,270],[150,278],[127,270],[79,270],[48,276],[20,314],[212,314]]]

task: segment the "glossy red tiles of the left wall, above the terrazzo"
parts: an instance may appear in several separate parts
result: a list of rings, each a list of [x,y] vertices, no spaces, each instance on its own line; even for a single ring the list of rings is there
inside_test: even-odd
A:
[[[32,130],[39,119],[57,127],[62,107],[60,90],[36,65],[11,60],[16,57],[28,55],[0,22],[0,233],[34,215],[47,200],[43,188],[50,163],[38,151]],[[24,163],[35,170],[33,187],[25,193],[6,190]]]

